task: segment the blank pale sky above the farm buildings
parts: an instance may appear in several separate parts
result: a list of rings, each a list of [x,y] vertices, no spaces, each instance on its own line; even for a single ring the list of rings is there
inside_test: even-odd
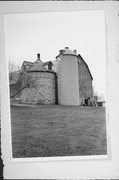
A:
[[[60,49],[77,50],[93,76],[94,91],[106,97],[106,39],[103,11],[7,14],[4,17],[7,61],[21,65],[54,61]]]

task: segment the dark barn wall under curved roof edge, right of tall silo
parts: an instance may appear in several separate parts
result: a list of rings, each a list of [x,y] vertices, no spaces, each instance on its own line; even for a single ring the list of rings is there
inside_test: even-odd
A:
[[[81,99],[92,97],[93,96],[92,78],[86,63],[82,59],[80,59],[78,63],[78,73],[79,73],[79,94]]]

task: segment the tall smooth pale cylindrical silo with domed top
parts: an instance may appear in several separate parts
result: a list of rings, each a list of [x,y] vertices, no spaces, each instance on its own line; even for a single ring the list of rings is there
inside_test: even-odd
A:
[[[61,105],[79,105],[78,56],[66,47],[56,57],[58,73],[58,102]]]

